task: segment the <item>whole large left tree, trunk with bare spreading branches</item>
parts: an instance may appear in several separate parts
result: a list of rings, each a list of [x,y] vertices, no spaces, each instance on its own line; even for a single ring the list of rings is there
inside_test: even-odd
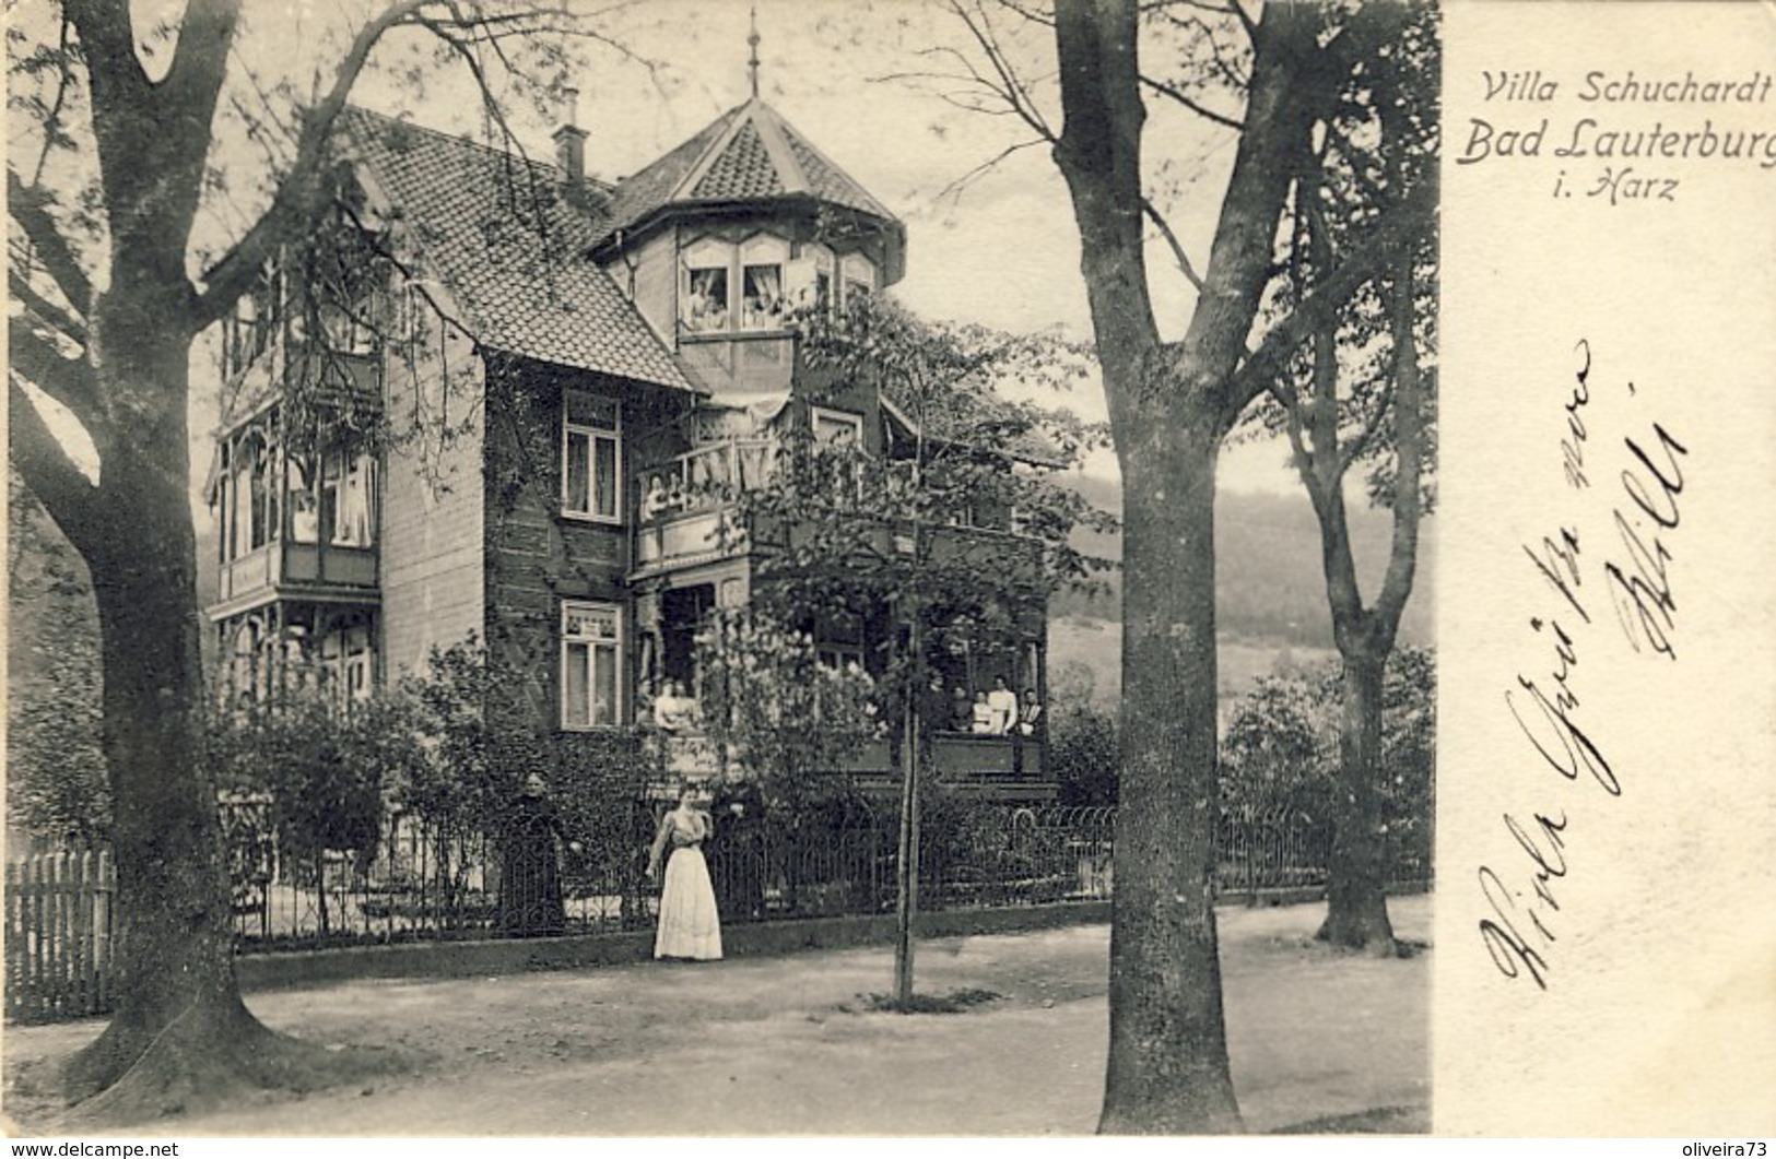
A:
[[[119,1118],[350,1070],[265,1029],[234,983],[201,747],[192,344],[286,243],[337,213],[332,130],[385,39],[410,37],[408,48],[430,44],[464,64],[504,128],[490,78],[508,64],[538,66],[535,76],[559,83],[552,34],[586,27],[556,7],[391,0],[350,25],[330,71],[298,92],[242,66],[254,53],[236,43],[240,0],[190,0],[160,23],[133,16],[123,0],[64,0],[18,9],[7,28],[7,282],[20,304],[7,325],[11,453],[92,577],[126,964],[117,1012],[69,1061],[66,1088],[80,1100],[119,1084],[87,1109]],[[258,174],[224,174],[227,114],[247,154],[254,142],[263,149]],[[234,193],[249,202],[245,229],[206,263],[199,211],[206,195],[213,204]],[[263,208],[250,211],[254,201]],[[69,422],[91,442],[92,474],[59,437]]]

